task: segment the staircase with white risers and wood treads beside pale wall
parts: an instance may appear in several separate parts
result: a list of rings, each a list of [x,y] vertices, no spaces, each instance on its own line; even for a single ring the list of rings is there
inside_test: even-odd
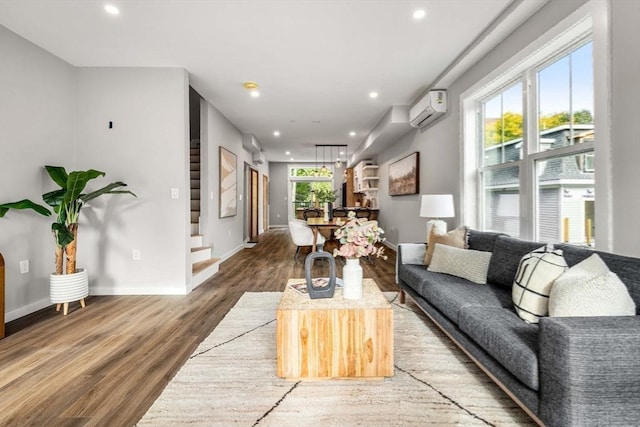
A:
[[[191,289],[218,272],[219,258],[211,257],[211,247],[204,246],[200,234],[200,141],[189,147],[191,183]]]

